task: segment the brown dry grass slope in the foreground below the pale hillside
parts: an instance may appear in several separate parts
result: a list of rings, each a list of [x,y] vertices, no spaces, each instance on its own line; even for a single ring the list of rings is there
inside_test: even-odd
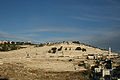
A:
[[[53,72],[26,68],[21,63],[0,65],[0,78],[8,80],[89,80],[83,72]]]

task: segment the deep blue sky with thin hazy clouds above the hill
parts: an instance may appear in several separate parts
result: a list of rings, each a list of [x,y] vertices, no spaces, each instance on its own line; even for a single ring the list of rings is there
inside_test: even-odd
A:
[[[79,40],[119,51],[120,0],[0,0],[0,40]]]

